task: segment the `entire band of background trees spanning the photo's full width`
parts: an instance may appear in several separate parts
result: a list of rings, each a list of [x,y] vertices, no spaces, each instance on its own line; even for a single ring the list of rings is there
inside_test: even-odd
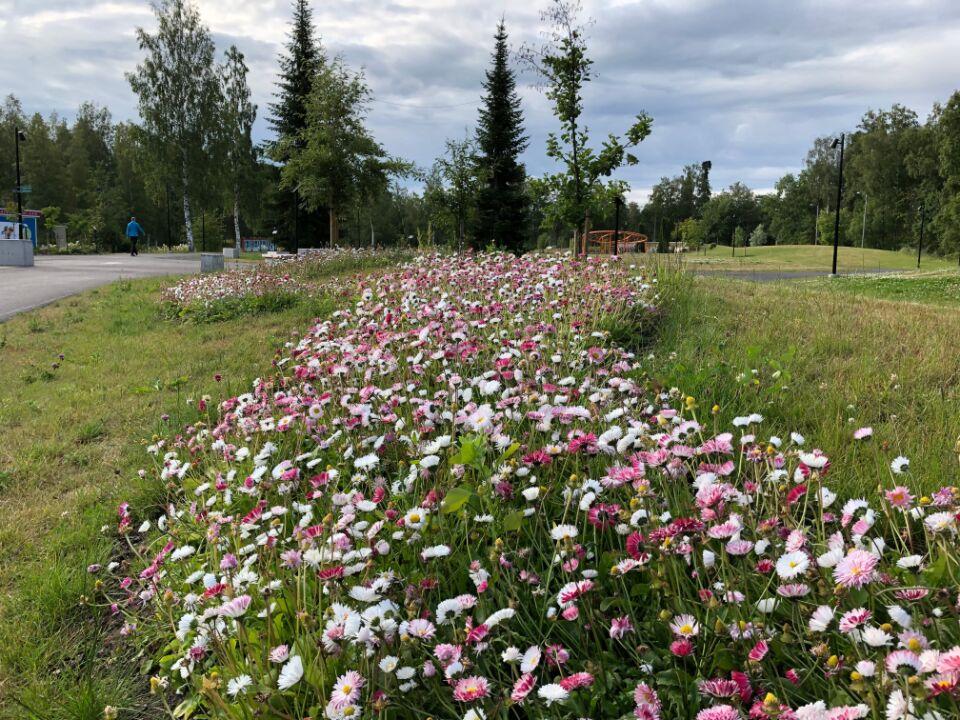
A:
[[[47,224],[99,248],[122,242],[137,214],[153,244],[235,244],[241,235],[274,238],[288,249],[327,244],[496,245],[522,251],[567,246],[593,228],[612,228],[629,186],[615,175],[638,162],[652,130],[640,112],[622,135],[592,141],[584,88],[593,78],[588,22],[576,0],[542,13],[542,45],[509,46],[505,21],[493,35],[474,129],[445,142],[427,168],[394,157],[367,119],[373,95],[362,70],[320,42],[308,0],[293,0],[279,57],[272,137],[251,138],[243,54],[218,57],[191,0],[158,0],[157,25],[137,37],[143,59],[127,78],[140,121],[115,123],[82,105],[72,124],[27,117],[16,98],[0,108],[0,200],[10,204],[13,126],[26,129],[24,182],[30,207]],[[544,148],[557,170],[528,175],[517,74],[526,71],[549,100],[558,129]],[[841,242],[895,249],[915,243],[923,215],[938,252],[960,251],[960,93],[920,122],[894,105],[867,112],[848,133]],[[680,241],[760,245],[832,241],[837,149],[818,138],[798,173],[773,192],[742,183],[714,193],[711,164],[662,178],[640,207],[625,203],[621,227],[661,245]],[[410,188],[419,184],[420,191]],[[921,213],[921,207],[923,208]]]

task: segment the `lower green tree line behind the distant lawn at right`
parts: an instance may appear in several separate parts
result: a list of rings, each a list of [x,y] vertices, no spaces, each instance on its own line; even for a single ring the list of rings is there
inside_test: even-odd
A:
[[[960,252],[960,92],[935,104],[925,121],[893,105],[867,111],[844,134],[840,243],[916,247],[922,222],[925,249]],[[688,247],[832,243],[838,136],[817,138],[802,169],[767,194],[735,183],[711,195],[709,166],[688,165],[654,186],[638,225]]]

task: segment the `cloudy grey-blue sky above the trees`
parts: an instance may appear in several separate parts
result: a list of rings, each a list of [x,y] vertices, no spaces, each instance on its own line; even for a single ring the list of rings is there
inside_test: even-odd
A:
[[[314,0],[328,51],[366,70],[370,124],[392,154],[429,165],[472,127],[497,19],[511,43],[537,41],[546,0]],[[288,28],[288,0],[198,0],[218,51],[251,66],[257,139]],[[796,170],[818,135],[852,128],[867,108],[901,102],[925,118],[960,86],[958,0],[586,0],[598,77],[586,94],[596,140],[640,110],[653,134],[621,177],[643,200],[663,175],[713,161],[714,188],[767,190]],[[0,77],[28,112],[71,116],[92,100],[136,117],[124,79],[139,59],[146,0],[0,0]],[[521,76],[528,171],[552,169],[555,126],[534,78]]]

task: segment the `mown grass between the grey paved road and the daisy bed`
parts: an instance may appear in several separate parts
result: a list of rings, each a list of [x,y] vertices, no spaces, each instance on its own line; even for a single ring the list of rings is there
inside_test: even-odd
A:
[[[189,422],[204,393],[246,386],[334,301],[216,324],[159,319],[168,281],[124,282],[0,325],[0,717],[156,717],[118,627],[84,605],[114,548],[101,526],[147,505],[144,441]],[[60,355],[63,357],[60,358]],[[161,416],[169,414],[167,422]]]

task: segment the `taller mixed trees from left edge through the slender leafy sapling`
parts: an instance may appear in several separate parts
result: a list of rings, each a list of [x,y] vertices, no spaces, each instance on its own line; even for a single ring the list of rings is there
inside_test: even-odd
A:
[[[56,115],[27,117],[12,96],[0,116],[9,180],[0,199],[12,200],[13,127],[25,128],[27,204],[98,249],[118,247],[136,214],[151,244],[190,249],[198,238],[219,246],[251,234],[289,249],[400,242],[519,252],[602,222],[610,198],[626,189],[611,176],[637,162],[631,149],[650,132],[641,113],[623,137],[591,145],[583,88],[592,62],[576,0],[552,0],[542,46],[512,53],[500,21],[476,127],[448,140],[428,168],[391,156],[373,137],[364,73],[320,43],[307,0],[292,2],[268,108],[273,137],[260,145],[251,139],[258,108],[243,54],[231,46],[218,57],[191,0],[158,0],[153,9],[156,29],[138,29],[143,57],[127,74],[139,122],[115,123],[107,109],[84,104],[68,126]],[[520,160],[528,138],[518,64],[539,79],[559,121],[546,146],[559,170],[542,178]],[[410,190],[417,182],[422,191]]]

